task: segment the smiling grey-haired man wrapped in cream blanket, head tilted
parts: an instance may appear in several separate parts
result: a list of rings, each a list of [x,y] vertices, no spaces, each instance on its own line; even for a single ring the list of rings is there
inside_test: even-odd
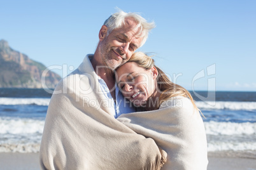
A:
[[[166,153],[155,141],[115,119],[124,105],[118,102],[113,69],[131,58],[153,26],[124,11],[106,20],[94,55],[55,88],[41,140],[41,169],[160,169],[164,164]]]

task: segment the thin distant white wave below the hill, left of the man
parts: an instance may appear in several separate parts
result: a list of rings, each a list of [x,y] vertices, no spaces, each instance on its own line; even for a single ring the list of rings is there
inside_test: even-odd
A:
[[[48,106],[50,98],[0,98],[0,105],[42,105]]]

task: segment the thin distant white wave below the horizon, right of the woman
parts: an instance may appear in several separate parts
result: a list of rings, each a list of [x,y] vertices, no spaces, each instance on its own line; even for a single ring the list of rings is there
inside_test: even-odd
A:
[[[256,110],[255,101],[196,101],[201,110]]]

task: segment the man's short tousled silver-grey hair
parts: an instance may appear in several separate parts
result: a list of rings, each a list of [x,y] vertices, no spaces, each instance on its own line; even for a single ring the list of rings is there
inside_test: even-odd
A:
[[[138,35],[143,37],[141,41],[141,45],[145,44],[146,39],[148,38],[148,32],[155,27],[154,22],[147,22],[145,18],[143,18],[138,13],[125,13],[122,10],[118,10],[117,13],[112,14],[105,22],[104,25],[108,27],[107,36],[114,29],[121,27],[125,24],[125,18],[133,18],[135,22],[137,22],[136,28],[139,29]]]

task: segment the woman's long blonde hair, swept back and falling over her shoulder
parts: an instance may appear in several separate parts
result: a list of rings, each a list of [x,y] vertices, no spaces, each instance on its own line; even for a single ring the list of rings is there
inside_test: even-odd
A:
[[[161,93],[157,103],[157,108],[160,107],[163,101],[166,101],[169,98],[184,96],[192,101],[192,104],[196,110],[199,110],[187,89],[171,82],[167,75],[164,74],[164,72],[159,69],[159,67],[155,66],[155,61],[150,56],[146,55],[143,52],[136,52],[131,56],[128,62],[135,62],[139,65],[139,67],[143,67],[146,70],[152,69],[152,67],[155,67],[155,69],[157,69],[157,88]]]

